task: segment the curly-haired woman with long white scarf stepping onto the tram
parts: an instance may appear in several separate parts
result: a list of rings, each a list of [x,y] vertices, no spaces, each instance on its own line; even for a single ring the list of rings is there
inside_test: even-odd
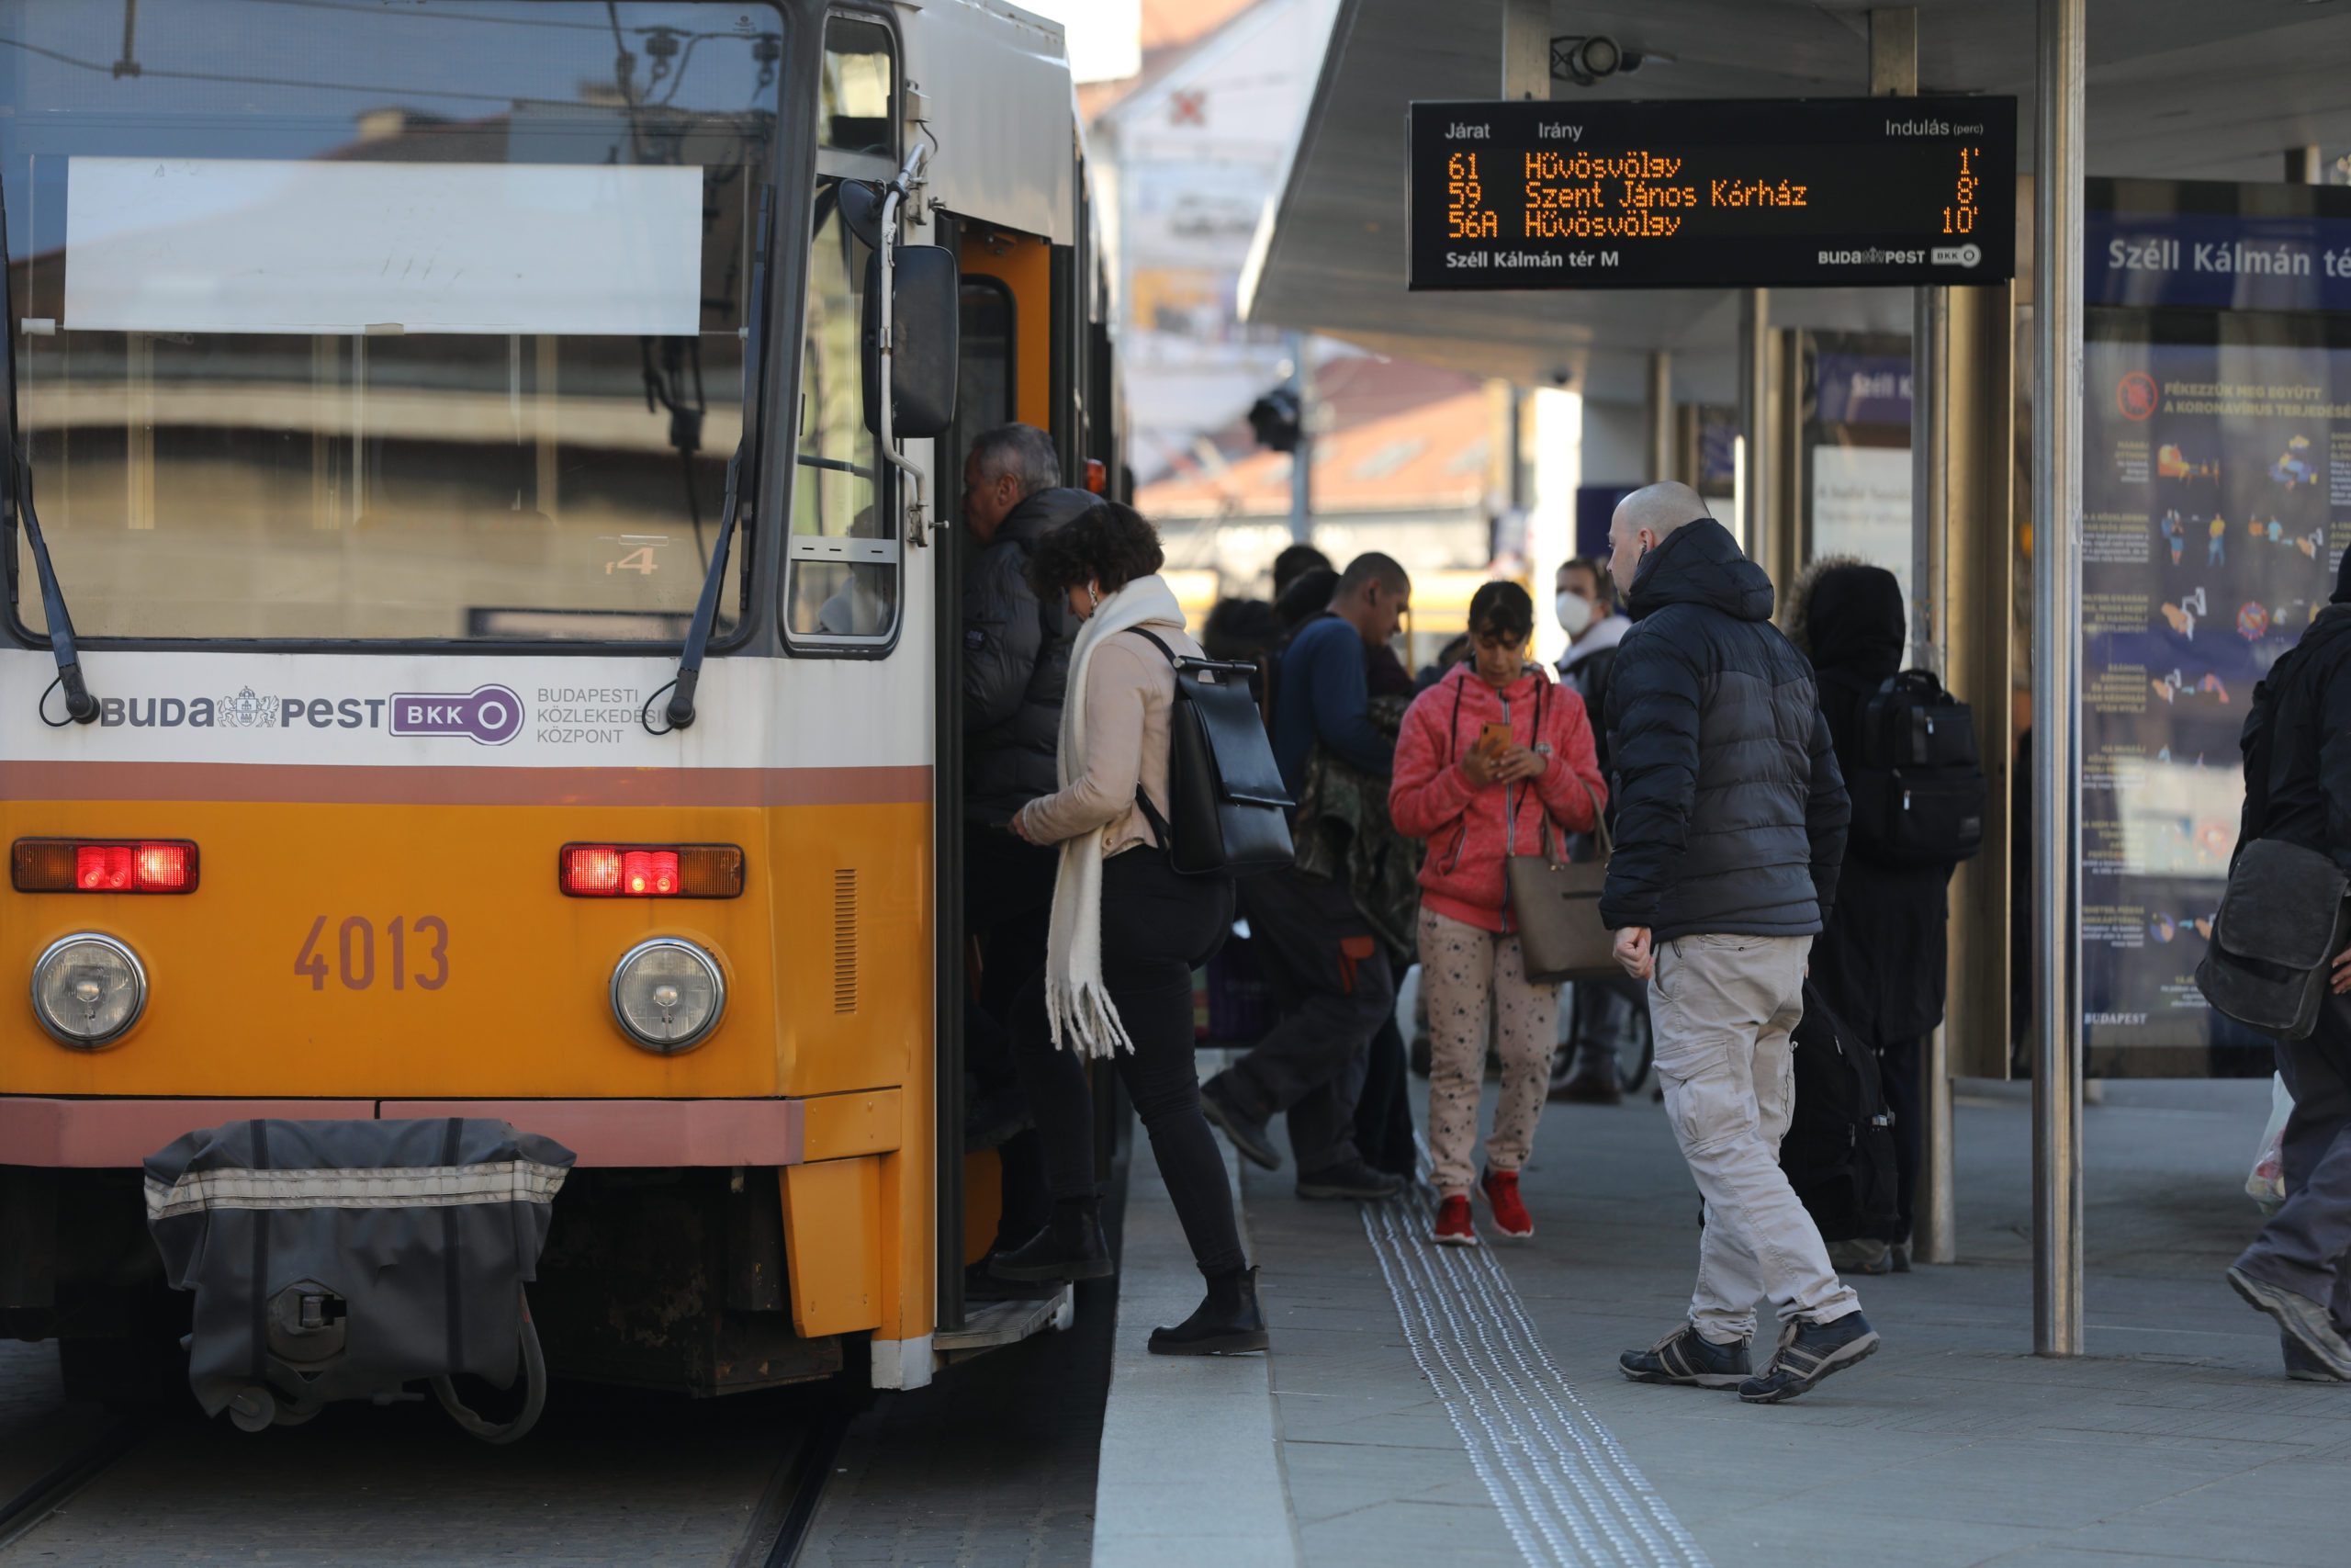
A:
[[[1199,658],[1183,607],[1159,578],[1159,534],[1133,508],[1100,505],[1037,541],[1037,597],[1065,597],[1084,621],[1060,710],[1060,790],[1011,820],[1030,844],[1060,844],[1044,973],[1013,1004],[1013,1065],[1037,1117],[1053,1218],[997,1253],[1002,1279],[1103,1279],[1112,1272],[1093,1185],[1093,1095],[1084,1063],[1107,1058],[1150,1133],[1192,1260],[1208,1279],[1199,1309],[1154,1328],[1150,1349],[1204,1356],[1265,1349],[1258,1272],[1225,1185],[1225,1159],[1199,1110],[1192,1065],[1192,971],[1232,929],[1230,877],[1180,877],[1152,816],[1168,813],[1168,715],[1176,668],[1152,646]],[[1147,797],[1147,806],[1145,799]]]

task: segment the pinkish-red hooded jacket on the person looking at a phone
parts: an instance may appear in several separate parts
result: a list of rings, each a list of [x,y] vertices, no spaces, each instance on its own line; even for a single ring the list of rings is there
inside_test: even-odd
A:
[[[1542,733],[1535,733],[1538,705]],[[1505,717],[1519,745],[1552,748],[1549,766],[1533,780],[1479,788],[1460,759],[1476,748],[1486,724],[1502,724]],[[1545,811],[1554,842],[1563,830],[1592,832],[1596,818],[1587,783],[1601,802],[1608,799],[1592,755],[1585,698],[1573,686],[1554,682],[1542,665],[1526,665],[1519,679],[1495,691],[1467,661],[1453,665],[1404,712],[1396,773],[1387,788],[1396,832],[1429,842],[1420,863],[1420,903],[1486,931],[1512,931],[1505,858],[1542,853]],[[1512,809],[1516,835],[1509,832]]]

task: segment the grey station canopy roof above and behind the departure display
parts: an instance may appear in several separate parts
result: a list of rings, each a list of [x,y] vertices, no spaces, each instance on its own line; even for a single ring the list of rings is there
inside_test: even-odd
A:
[[[1869,89],[1869,7],[1620,0],[1552,7],[1552,35],[1606,33],[1646,59],[1554,99],[1820,99]],[[2088,172],[2276,181],[2285,148],[2351,150],[2351,0],[2090,0]],[[1921,92],[2017,96],[2034,160],[2034,0],[1918,7]],[[1730,402],[1726,289],[1408,294],[1406,106],[1495,99],[1502,5],[1342,0],[1291,167],[1241,277],[1251,322],[1526,386],[1639,402],[1648,350],[1676,395]],[[2020,247],[2031,228],[2020,197]],[[2027,273],[2020,268],[2020,277]],[[1909,331],[1907,289],[1775,289],[1775,327]]]

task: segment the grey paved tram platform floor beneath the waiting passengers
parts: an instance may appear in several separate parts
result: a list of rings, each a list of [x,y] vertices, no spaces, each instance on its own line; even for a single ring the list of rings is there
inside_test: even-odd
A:
[[[1646,1095],[1554,1105],[1523,1175],[1538,1234],[1481,1258],[1418,1246],[1418,1204],[1307,1204],[1288,1168],[1248,1168],[1272,1420],[1241,1453],[1251,1389],[1204,1385],[1192,1410],[1154,1399],[1154,1512],[1187,1500],[1192,1561],[1295,1552],[1307,1568],[2332,1568],[2351,1552],[2351,1387],[2288,1382],[2269,1319],[2219,1276],[2259,1225],[2241,1182],[2266,1095],[2114,1084],[2088,1110],[2078,1361],[2029,1354],[2027,1103],[1963,1095],[1963,1262],[1857,1281],[1886,1347],[1787,1406],[1615,1373],[1620,1349],[1679,1321],[1695,1267],[1697,1194]],[[1119,1352],[1147,1328],[1121,1305]],[[1105,1434],[1131,1387],[1112,1382]],[[1230,1486],[1211,1469],[1279,1481],[1284,1516],[1211,1523]],[[1140,1505],[1105,1450],[1096,1563],[1183,1561],[1166,1540],[1136,1554]],[[1248,1552],[1230,1549],[1237,1514],[1262,1526]]]

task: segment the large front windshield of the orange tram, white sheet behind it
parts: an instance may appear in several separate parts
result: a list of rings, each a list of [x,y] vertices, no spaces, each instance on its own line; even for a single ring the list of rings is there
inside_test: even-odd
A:
[[[0,0],[16,416],[78,630],[682,639],[783,52],[745,2]]]

